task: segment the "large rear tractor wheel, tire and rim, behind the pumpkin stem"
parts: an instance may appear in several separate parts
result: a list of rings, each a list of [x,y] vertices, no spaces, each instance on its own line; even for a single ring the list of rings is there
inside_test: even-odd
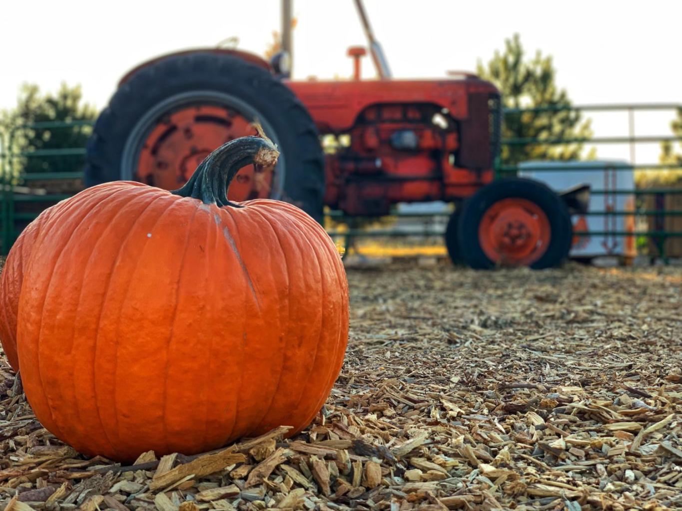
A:
[[[124,180],[177,189],[218,146],[256,134],[253,121],[280,159],[269,172],[241,170],[230,199],[286,200],[322,221],[324,160],[308,110],[266,69],[211,52],[166,57],[119,87],[88,142],[86,185]]]

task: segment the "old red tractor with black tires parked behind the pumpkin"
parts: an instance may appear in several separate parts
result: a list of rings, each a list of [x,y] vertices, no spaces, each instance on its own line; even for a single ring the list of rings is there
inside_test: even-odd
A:
[[[126,74],[89,141],[87,185],[123,179],[177,189],[213,149],[254,134],[257,120],[282,155],[270,172],[241,170],[231,200],[286,200],[318,221],[325,205],[367,217],[399,202],[444,200],[456,203],[445,234],[453,260],[546,268],[567,256],[578,194],[562,200],[536,181],[493,181],[501,101],[492,84],[471,74],[391,79],[360,0],[379,79],[360,80],[365,49],[350,48],[352,80],[288,80],[291,1],[282,5],[283,51],[271,62],[205,48]],[[336,140],[336,151],[325,156],[321,136]]]

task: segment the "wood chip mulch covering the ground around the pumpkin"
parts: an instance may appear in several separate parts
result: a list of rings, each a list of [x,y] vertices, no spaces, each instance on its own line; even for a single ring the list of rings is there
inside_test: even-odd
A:
[[[0,370],[6,511],[682,508],[682,269],[349,270],[342,374],[304,433],[86,459]],[[0,508],[1,509],[1,508]]]

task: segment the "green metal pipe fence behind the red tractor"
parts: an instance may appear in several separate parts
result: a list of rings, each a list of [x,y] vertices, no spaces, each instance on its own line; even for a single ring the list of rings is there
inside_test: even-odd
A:
[[[682,105],[679,104],[628,104],[628,105],[610,105],[610,106],[578,106],[578,107],[545,107],[533,109],[507,109],[505,116],[520,115],[525,112],[551,112],[560,110],[576,110],[580,112],[621,112],[627,115],[627,123],[624,123],[627,128],[627,135],[612,136],[612,137],[595,137],[595,138],[554,138],[554,139],[533,139],[533,138],[515,138],[502,140],[502,144],[507,146],[520,145],[559,145],[559,144],[628,144],[630,149],[629,166],[628,168],[634,170],[647,170],[649,172],[666,172],[669,170],[682,170],[682,166],[658,164],[654,162],[638,164],[636,163],[636,147],[638,144],[660,143],[664,141],[677,142],[682,140],[680,136],[636,136],[635,135],[635,113],[651,110],[666,110],[670,112],[670,119],[674,112],[682,111]],[[1,239],[0,251],[6,254],[16,237],[21,232],[23,227],[31,220],[40,214],[42,209],[68,198],[74,193],[73,191],[60,191],[59,185],[56,189],[38,188],[36,183],[66,183],[68,181],[78,181],[83,179],[83,171],[74,169],[72,172],[18,172],[17,168],[20,166],[22,159],[42,157],[47,159],[57,159],[74,156],[85,155],[85,148],[73,147],[62,149],[42,149],[40,151],[27,151],[25,153],[13,153],[11,148],[14,146],[14,139],[21,136],[23,130],[27,129],[74,129],[75,127],[91,126],[92,121],[71,121],[71,122],[49,122],[49,123],[35,123],[33,125],[23,125],[15,127],[9,133],[4,134],[3,139],[0,140],[0,170],[1,170],[1,185],[2,185],[2,204],[0,211],[0,225],[1,225]],[[668,131],[668,125],[662,126],[661,129]],[[589,166],[581,166],[582,170],[589,168]],[[595,168],[597,168],[595,166]],[[602,168],[602,166],[599,166]],[[570,172],[571,166],[566,164],[552,164],[547,168],[534,168],[534,171],[539,172]],[[516,175],[519,172],[519,166],[498,166],[496,174],[498,176]],[[618,168],[614,172],[619,172]],[[634,195],[636,206],[633,211],[624,211],[616,208],[609,208],[604,211],[590,211],[588,215],[599,215],[604,217],[619,217],[622,215],[636,215],[640,221],[640,226],[646,228],[632,231],[619,231],[612,228],[613,223],[607,224],[602,231],[576,231],[576,235],[604,235],[611,234],[614,236],[632,235],[639,236],[650,240],[650,247],[655,247],[655,252],[652,255],[662,258],[664,261],[668,260],[670,255],[682,256],[682,253],[677,253],[678,249],[682,251],[682,221],[677,219],[682,218],[682,173],[680,175],[680,185],[666,186],[666,187],[634,187],[628,189],[619,189],[612,187],[604,187],[602,189],[593,189],[593,194],[610,195]],[[670,208],[669,204],[676,206]],[[679,205],[677,205],[679,204]],[[346,218],[338,211],[329,211],[327,215],[336,221],[345,221],[351,228],[340,230],[331,229],[329,234],[336,238],[343,238],[345,243],[349,242],[351,238],[355,237],[379,237],[379,236],[441,236],[443,234],[442,228],[430,228],[426,223],[424,228],[417,231],[404,232],[396,228],[382,228],[382,229],[361,229],[353,228],[353,219]],[[449,210],[444,210],[439,213],[395,213],[396,217],[433,217],[449,215]],[[644,221],[641,221],[644,219]],[[674,221],[671,220],[674,219]],[[678,245],[671,245],[670,240],[680,240]],[[671,250],[671,247],[674,250]]]

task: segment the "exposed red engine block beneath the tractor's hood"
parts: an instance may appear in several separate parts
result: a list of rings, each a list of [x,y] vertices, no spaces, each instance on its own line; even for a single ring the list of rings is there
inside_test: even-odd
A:
[[[459,139],[447,110],[433,104],[366,108],[350,144],[327,160],[325,202],[349,215],[387,215],[391,204],[443,196],[445,165]]]

